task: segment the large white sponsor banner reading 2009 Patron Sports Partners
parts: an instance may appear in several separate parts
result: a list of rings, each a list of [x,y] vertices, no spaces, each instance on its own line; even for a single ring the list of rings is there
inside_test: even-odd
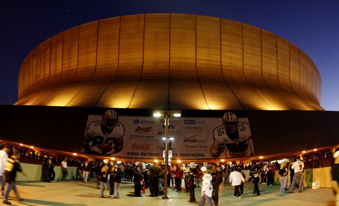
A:
[[[164,117],[118,116],[115,110],[89,115],[82,153],[129,158],[163,158]],[[253,156],[247,117],[169,117],[168,138],[177,159]]]

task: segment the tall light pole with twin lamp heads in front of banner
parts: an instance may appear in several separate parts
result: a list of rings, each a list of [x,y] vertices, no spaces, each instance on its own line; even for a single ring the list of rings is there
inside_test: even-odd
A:
[[[164,195],[162,196],[162,199],[169,199],[169,196],[167,196],[167,167],[168,167],[168,116],[174,116],[174,117],[180,117],[181,111],[153,111],[153,116],[160,117],[165,116],[165,169],[164,169]]]

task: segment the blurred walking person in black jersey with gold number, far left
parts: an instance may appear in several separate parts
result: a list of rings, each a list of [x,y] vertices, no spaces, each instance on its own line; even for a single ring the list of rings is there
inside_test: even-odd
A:
[[[2,204],[10,205],[12,203],[8,202],[9,192],[13,189],[15,195],[17,196],[20,202],[23,199],[20,197],[19,192],[15,186],[15,178],[17,176],[17,172],[21,173],[23,176],[27,178],[26,173],[21,169],[20,159],[21,153],[19,150],[15,150],[13,155],[7,159],[7,163],[5,166],[5,177],[6,177],[6,187],[4,196],[2,198]]]

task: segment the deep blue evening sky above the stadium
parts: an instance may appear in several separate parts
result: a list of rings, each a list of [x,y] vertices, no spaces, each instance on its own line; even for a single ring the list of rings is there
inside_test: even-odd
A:
[[[18,99],[17,75],[27,54],[59,32],[121,15],[184,13],[243,22],[295,44],[318,67],[320,105],[339,111],[339,1],[1,0],[0,9],[0,105]]]

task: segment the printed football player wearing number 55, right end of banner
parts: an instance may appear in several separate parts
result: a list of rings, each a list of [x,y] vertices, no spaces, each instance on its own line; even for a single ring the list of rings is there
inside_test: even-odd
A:
[[[238,117],[232,112],[226,112],[222,121],[223,125],[213,131],[212,157],[219,157],[225,148],[228,158],[254,155],[250,125],[238,122]]]

